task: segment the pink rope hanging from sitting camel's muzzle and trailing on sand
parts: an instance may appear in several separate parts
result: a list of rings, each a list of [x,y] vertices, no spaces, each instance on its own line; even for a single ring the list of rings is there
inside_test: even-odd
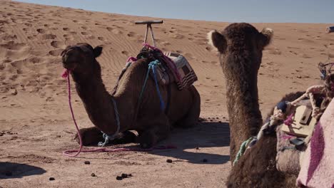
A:
[[[61,77],[66,78],[67,79],[67,89],[68,89],[68,93],[69,93],[69,108],[71,110],[71,115],[72,115],[72,119],[74,121],[74,125],[76,125],[76,131],[78,132],[79,135],[79,140],[80,140],[80,147],[79,150],[66,150],[63,152],[63,155],[67,156],[67,157],[76,157],[79,155],[80,152],[150,152],[152,150],[168,150],[168,149],[176,149],[175,146],[173,145],[167,145],[167,146],[161,146],[161,147],[151,147],[148,149],[135,149],[135,148],[124,148],[124,147],[116,147],[113,149],[108,149],[106,147],[102,147],[102,148],[95,148],[95,149],[91,149],[91,150],[82,150],[82,138],[80,135],[80,131],[79,131],[79,127],[78,124],[76,123],[76,119],[74,117],[74,112],[73,112],[73,108],[71,105],[71,82],[70,82],[70,77],[69,77],[70,71],[68,69],[66,69],[64,71],[64,73],[61,75]],[[70,153],[74,153],[76,152],[76,154],[74,155],[70,155]]]

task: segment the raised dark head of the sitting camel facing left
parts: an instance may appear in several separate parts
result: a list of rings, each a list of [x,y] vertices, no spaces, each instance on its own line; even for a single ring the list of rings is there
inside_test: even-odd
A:
[[[88,43],[77,43],[73,46],[67,46],[61,52],[61,58],[64,68],[74,72],[86,73],[91,71],[96,64],[96,59],[102,53],[102,47],[93,48]]]

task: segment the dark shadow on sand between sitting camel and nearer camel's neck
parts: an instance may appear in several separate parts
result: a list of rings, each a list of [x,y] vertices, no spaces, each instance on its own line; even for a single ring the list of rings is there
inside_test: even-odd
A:
[[[171,144],[174,150],[153,150],[153,155],[177,158],[193,164],[223,164],[230,160],[229,155],[205,152],[209,147],[229,147],[230,127],[226,122],[200,122],[188,129],[174,128],[171,136],[158,145]]]

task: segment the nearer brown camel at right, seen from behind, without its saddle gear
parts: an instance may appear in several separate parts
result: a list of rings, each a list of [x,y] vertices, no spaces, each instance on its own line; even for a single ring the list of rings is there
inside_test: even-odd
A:
[[[263,48],[270,43],[272,36],[273,31],[270,28],[258,32],[248,23],[233,23],[221,33],[218,31],[208,33],[209,42],[220,53],[221,66],[226,76],[232,162],[241,143],[257,135],[263,125],[258,105],[258,69],[262,61]],[[300,95],[303,93],[290,93],[281,101],[292,101]],[[258,140],[233,166],[226,185],[295,187],[296,175],[283,174],[275,167],[276,144],[275,131]]]

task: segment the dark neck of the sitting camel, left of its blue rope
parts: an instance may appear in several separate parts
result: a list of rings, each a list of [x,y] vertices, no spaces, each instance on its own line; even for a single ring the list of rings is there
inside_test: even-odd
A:
[[[123,98],[119,96],[115,97],[114,100],[116,100],[117,107],[113,105],[112,96],[103,84],[101,69],[90,74],[89,77],[80,73],[72,73],[72,76],[76,83],[76,91],[83,102],[91,122],[99,130],[112,135],[117,130],[115,108],[118,108],[122,131],[122,125],[128,124],[128,119],[121,117],[126,110],[120,108],[123,106]]]

